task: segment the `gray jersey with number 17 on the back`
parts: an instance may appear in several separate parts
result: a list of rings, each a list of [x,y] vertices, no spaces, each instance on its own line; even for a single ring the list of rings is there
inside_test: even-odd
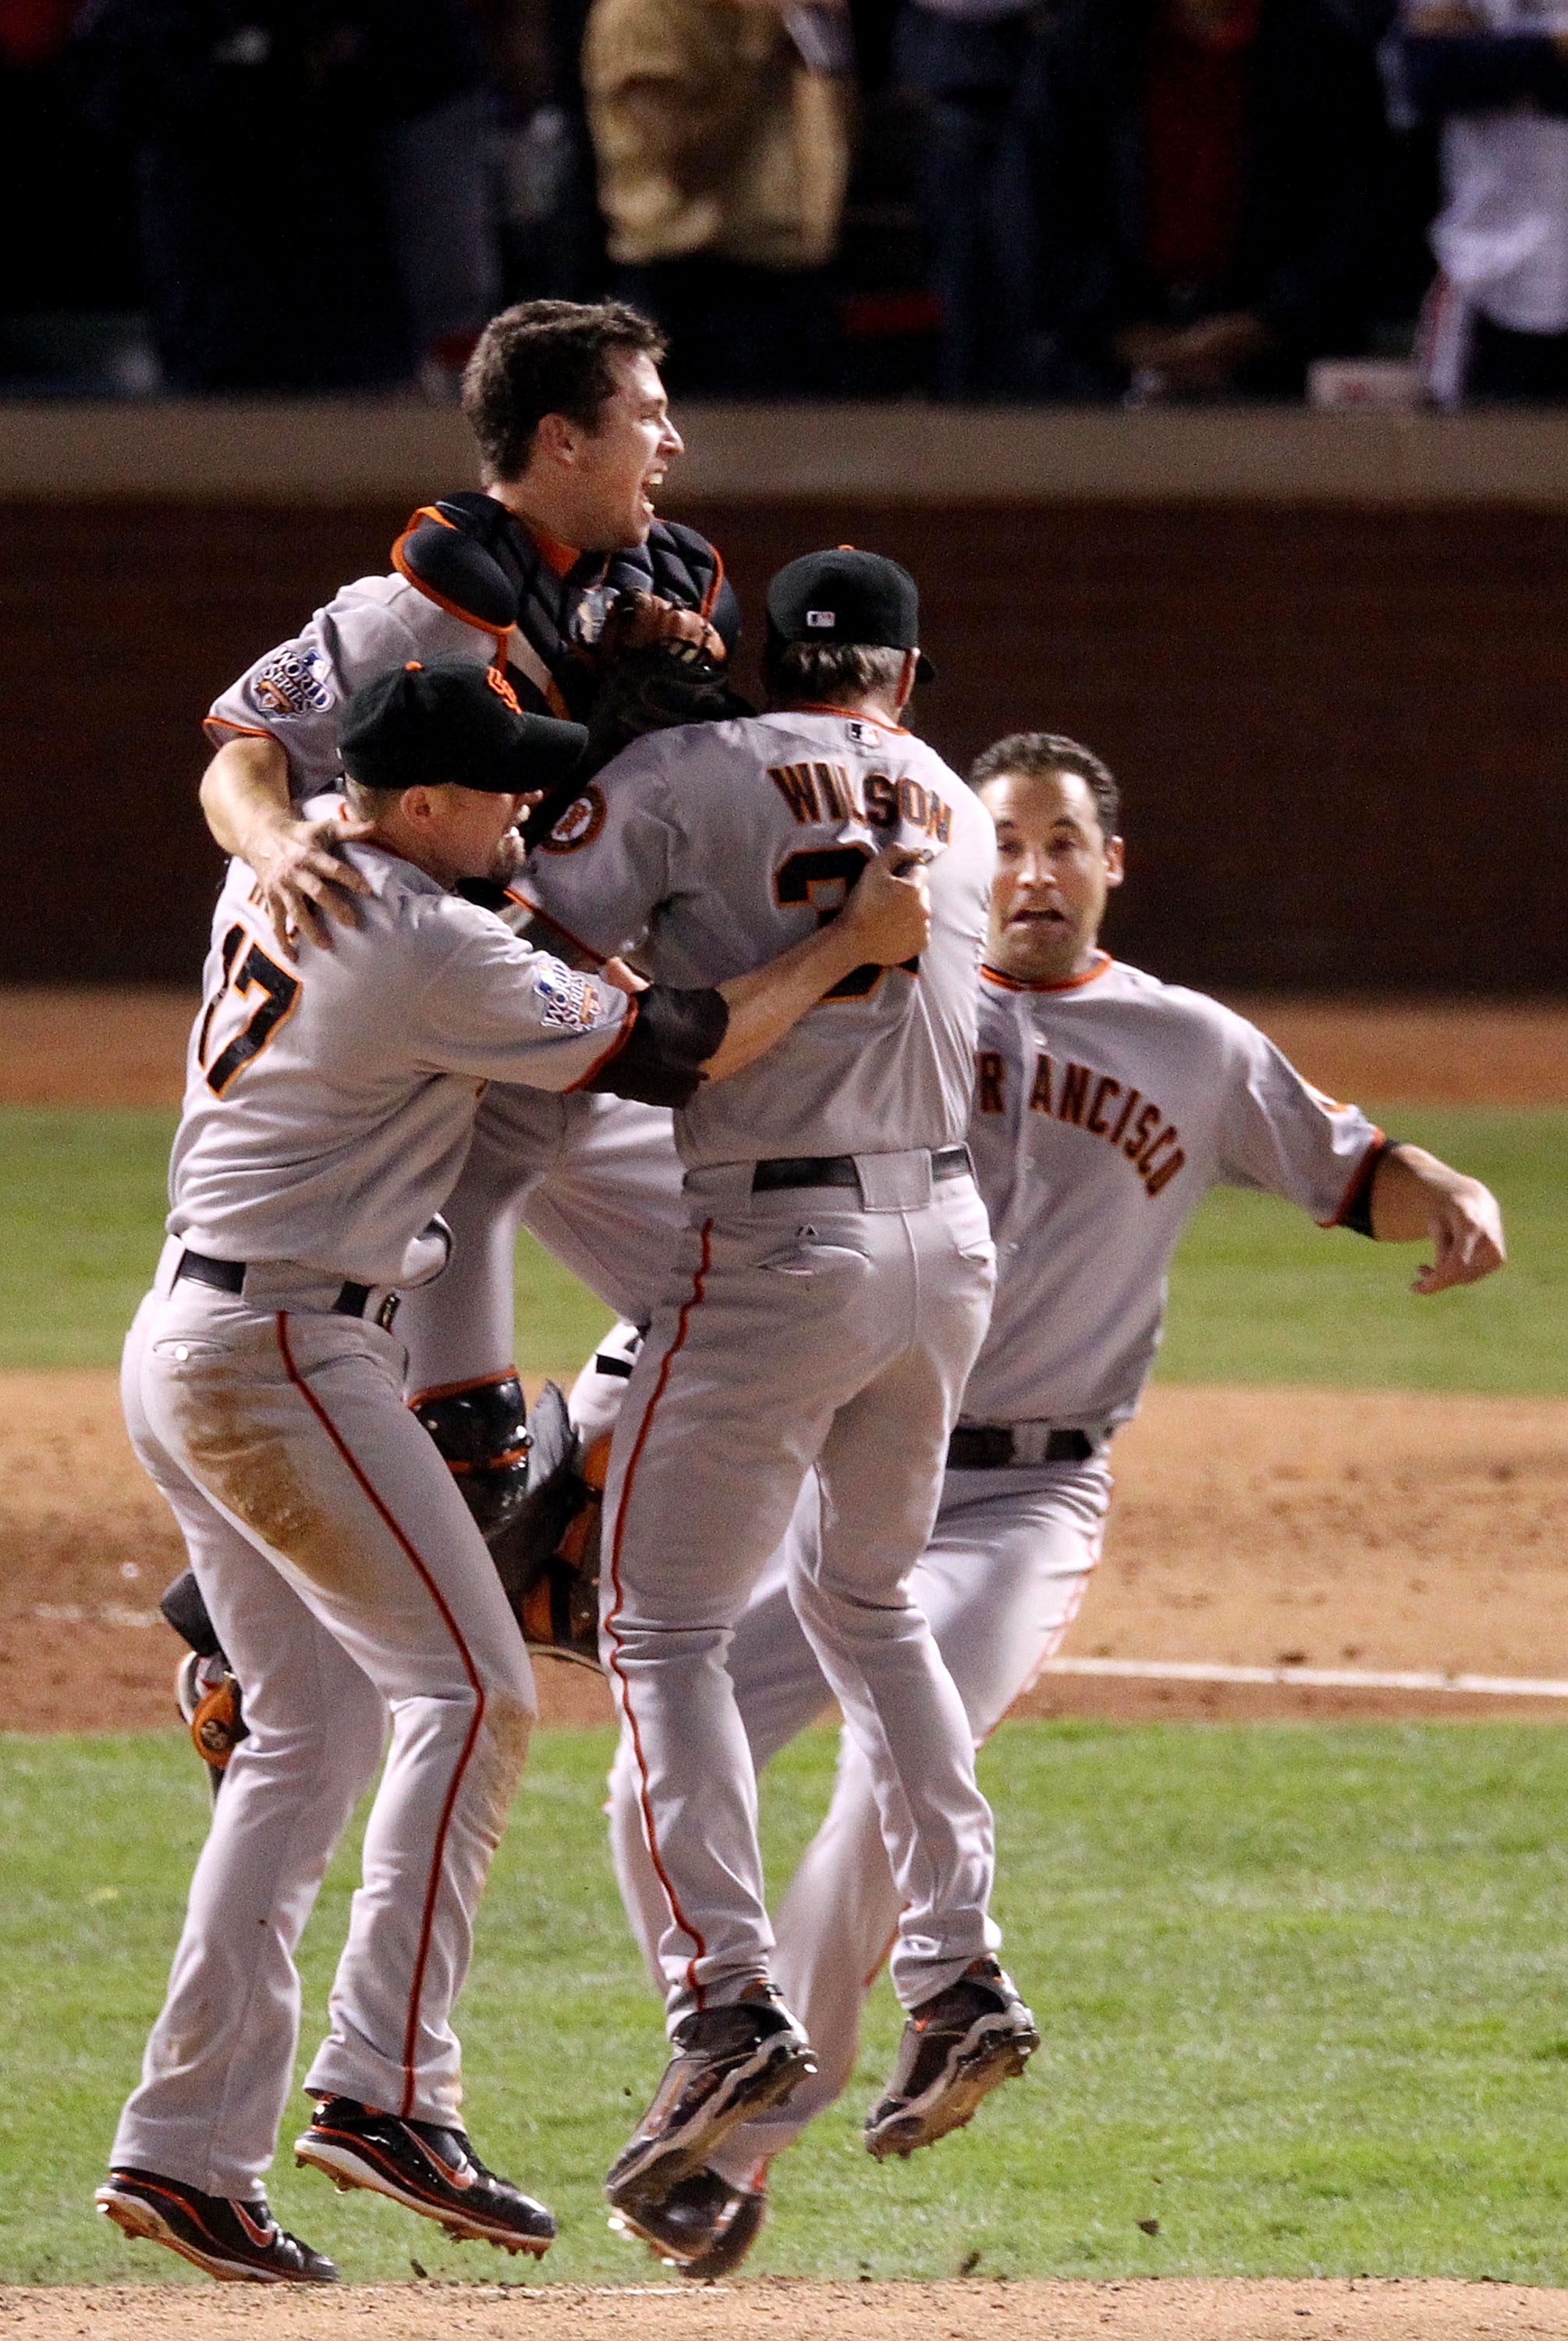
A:
[[[573,1089],[627,1000],[379,847],[356,927],[278,955],[229,866],[190,1039],[169,1234],[218,1259],[293,1259],[396,1285],[447,1199],[484,1082]]]

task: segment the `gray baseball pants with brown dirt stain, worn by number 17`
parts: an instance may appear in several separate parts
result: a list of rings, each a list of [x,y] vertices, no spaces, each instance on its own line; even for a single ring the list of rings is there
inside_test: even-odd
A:
[[[269,1288],[239,1297],[171,1283],[178,1255],[131,1327],[124,1407],[250,1737],[112,2158],[253,2198],[293,2081],[295,1943],[388,1728],[307,2088],[461,2119],[449,2016],[536,1704],[489,1552],[403,1405],[403,1344],[302,1271],[253,1269]]]

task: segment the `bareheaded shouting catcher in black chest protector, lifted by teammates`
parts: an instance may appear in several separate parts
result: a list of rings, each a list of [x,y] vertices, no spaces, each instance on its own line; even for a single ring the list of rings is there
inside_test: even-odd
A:
[[[218,695],[201,782],[213,836],[257,873],[278,941],[353,918],[356,824],[309,817],[337,789],[346,695],[407,658],[506,674],[524,707],[583,716],[597,754],[632,730],[730,712],[740,606],[714,545],[653,496],[681,454],[655,328],[618,302],[496,316],[463,382],[484,492],[414,513],[393,574],[344,585]],[[314,812],[316,808],[311,808]],[[541,826],[559,810],[545,805]],[[552,948],[573,953],[562,939]],[[529,1210],[529,1203],[534,1210]],[[522,1498],[513,1248],[529,1217],[615,1311],[646,1316],[681,1224],[669,1117],[620,1098],[487,1091],[447,1206],[452,1278],[405,1311],[410,1400],[484,1529]]]

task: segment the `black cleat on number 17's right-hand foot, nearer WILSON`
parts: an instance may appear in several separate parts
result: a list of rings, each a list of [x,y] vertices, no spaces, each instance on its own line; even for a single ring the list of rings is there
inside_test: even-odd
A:
[[[403,2121],[358,2098],[321,2098],[309,2130],[295,2137],[295,2161],[325,2170],[339,2194],[365,2186],[391,2196],[435,2219],[454,2243],[494,2243],[536,2259],[555,2243],[552,2212],[487,2170],[466,2130]]]

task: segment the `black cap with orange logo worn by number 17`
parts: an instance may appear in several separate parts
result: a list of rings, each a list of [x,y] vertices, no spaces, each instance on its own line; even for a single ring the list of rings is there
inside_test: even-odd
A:
[[[520,796],[569,780],[583,761],[587,730],[522,709],[494,667],[431,658],[360,684],[344,712],[339,744],[344,773],[365,789],[456,782],[487,796]]]

